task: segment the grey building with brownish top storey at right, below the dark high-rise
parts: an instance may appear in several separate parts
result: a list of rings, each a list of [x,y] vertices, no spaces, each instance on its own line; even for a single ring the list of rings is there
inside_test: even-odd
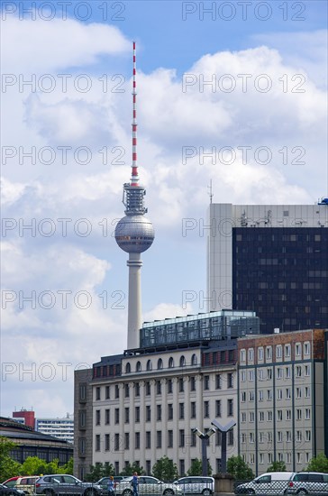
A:
[[[238,451],[254,473],[274,461],[301,471],[324,453],[327,336],[314,329],[238,340]]]

